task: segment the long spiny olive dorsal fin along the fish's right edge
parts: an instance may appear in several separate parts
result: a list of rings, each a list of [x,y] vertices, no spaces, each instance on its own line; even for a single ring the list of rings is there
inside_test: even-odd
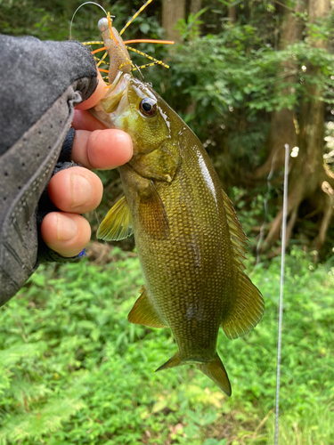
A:
[[[245,266],[242,261],[245,259],[245,256],[242,254],[247,252],[244,246],[247,245],[248,238],[232,207],[230,198],[224,190],[222,192],[234,253],[234,295],[231,295],[233,303],[231,310],[222,321],[222,328],[226,336],[237,338],[238,336],[244,336],[248,331],[257,326],[265,312],[265,302],[260,291],[244,273]]]

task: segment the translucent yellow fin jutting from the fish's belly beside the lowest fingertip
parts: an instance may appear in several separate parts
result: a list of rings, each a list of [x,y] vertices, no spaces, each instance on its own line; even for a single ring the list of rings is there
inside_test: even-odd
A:
[[[134,233],[130,208],[123,196],[110,208],[96,233],[98,239],[118,241]]]

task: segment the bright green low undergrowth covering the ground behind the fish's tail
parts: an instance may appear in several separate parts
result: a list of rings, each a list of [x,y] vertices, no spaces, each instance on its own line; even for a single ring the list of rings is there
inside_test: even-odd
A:
[[[251,278],[263,320],[218,352],[228,399],[196,368],[153,371],[175,352],[168,329],[127,322],[143,284],[134,255],[104,266],[41,267],[0,309],[0,444],[273,443],[280,260]],[[334,268],[287,258],[280,444],[334,444]]]

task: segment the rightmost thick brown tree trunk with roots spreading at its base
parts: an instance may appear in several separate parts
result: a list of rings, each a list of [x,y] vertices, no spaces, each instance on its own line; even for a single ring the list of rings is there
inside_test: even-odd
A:
[[[330,0],[309,0],[309,20],[315,22],[330,15]],[[311,36],[310,36],[311,39]],[[312,41],[316,48],[326,48],[327,42]],[[317,68],[307,64],[306,71],[316,74]],[[291,163],[289,174],[288,215],[291,234],[300,204],[307,200],[313,207],[312,214],[322,214],[314,247],[319,249],[325,239],[333,213],[334,176],[323,166],[324,103],[318,99],[322,92],[311,82],[305,85],[305,98],[300,112],[300,132],[297,137],[299,154]],[[282,211],[277,214],[265,239],[267,245],[278,239],[281,230]]]

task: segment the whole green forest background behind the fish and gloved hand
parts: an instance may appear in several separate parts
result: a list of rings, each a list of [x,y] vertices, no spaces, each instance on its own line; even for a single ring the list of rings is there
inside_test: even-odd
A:
[[[118,29],[143,4],[99,3],[116,16]],[[79,4],[1,0],[0,32],[65,40]],[[88,261],[41,268],[0,310],[0,443],[273,442],[287,143],[280,437],[287,444],[334,443],[332,6],[330,0],[155,0],[126,30],[126,38],[175,40],[174,48],[138,47],[171,67],[143,75],[200,137],[257,256],[248,270],[265,295],[264,320],[246,338],[219,338],[232,399],[191,369],[151,373],[174,345],[167,332],[126,322],[143,284],[133,239],[121,250],[92,243]],[[100,40],[101,16],[92,4],[80,9],[74,38]],[[136,54],[134,61],[146,63]],[[117,172],[101,177],[102,206],[87,215],[94,229],[121,193]]]

